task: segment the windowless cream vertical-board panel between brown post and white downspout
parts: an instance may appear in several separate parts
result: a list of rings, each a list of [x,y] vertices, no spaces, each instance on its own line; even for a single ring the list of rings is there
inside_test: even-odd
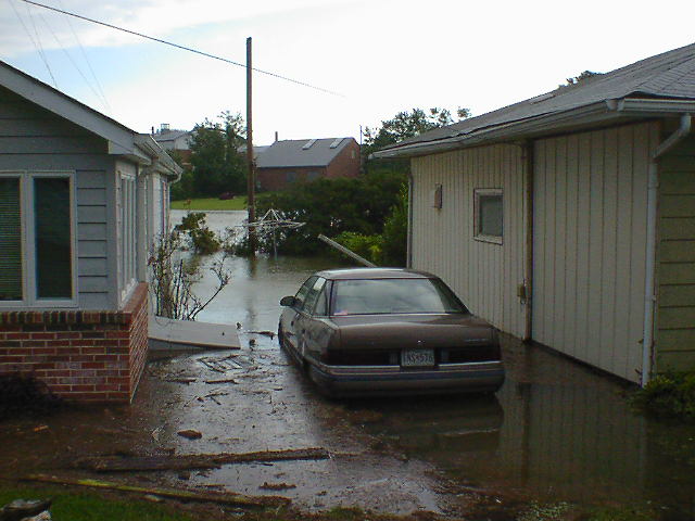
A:
[[[608,372],[642,370],[646,198],[656,124],[535,142],[533,339]]]

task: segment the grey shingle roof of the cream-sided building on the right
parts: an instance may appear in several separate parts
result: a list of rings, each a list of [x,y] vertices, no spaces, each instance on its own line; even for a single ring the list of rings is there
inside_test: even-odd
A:
[[[610,73],[592,76],[573,86],[561,87],[477,117],[437,128],[383,150],[464,136],[483,128],[633,96],[695,99],[695,43],[641,60]]]

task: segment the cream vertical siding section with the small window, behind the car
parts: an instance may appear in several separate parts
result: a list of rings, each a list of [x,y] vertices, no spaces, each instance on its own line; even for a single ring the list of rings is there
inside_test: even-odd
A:
[[[516,336],[525,334],[526,226],[522,149],[491,145],[425,157],[413,167],[412,266],[452,287],[472,313]],[[433,207],[442,187],[442,207]],[[473,239],[473,191],[503,189],[503,243]]]

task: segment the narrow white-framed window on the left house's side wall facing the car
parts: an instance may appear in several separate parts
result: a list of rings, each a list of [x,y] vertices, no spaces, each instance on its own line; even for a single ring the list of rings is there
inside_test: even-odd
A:
[[[118,170],[118,285],[124,303],[138,282],[136,176]]]

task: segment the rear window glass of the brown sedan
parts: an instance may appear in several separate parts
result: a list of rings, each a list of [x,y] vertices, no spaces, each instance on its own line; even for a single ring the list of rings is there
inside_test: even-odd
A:
[[[331,315],[467,313],[438,279],[338,280]]]

